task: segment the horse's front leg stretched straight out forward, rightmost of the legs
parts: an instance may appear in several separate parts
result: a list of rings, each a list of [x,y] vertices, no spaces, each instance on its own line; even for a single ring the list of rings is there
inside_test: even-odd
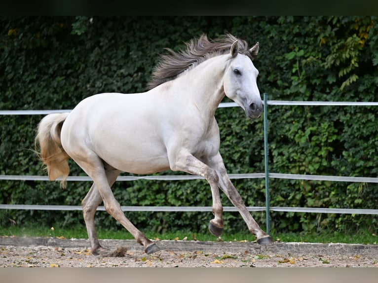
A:
[[[233,186],[231,180],[227,175],[227,170],[221,154],[218,152],[215,157],[212,157],[208,160],[208,164],[217,172],[219,176],[219,184],[222,191],[227,195],[231,203],[237,208],[245,223],[247,224],[248,230],[256,236],[257,243],[261,245],[273,244],[270,236],[260,228],[259,224],[255,221],[251,213],[245,207],[243,199],[241,198],[240,194]]]

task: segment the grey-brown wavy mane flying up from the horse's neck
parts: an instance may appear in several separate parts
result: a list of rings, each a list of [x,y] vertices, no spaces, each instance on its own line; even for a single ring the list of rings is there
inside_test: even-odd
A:
[[[215,40],[209,40],[207,39],[207,35],[203,34],[198,39],[192,39],[185,43],[187,49],[179,52],[165,48],[169,53],[160,56],[160,62],[152,71],[151,81],[147,84],[147,89],[152,89],[164,82],[173,80],[183,72],[193,69],[209,58],[227,54],[230,51],[232,43],[236,40],[239,44],[239,53],[251,58],[247,42],[230,34],[226,34]]]

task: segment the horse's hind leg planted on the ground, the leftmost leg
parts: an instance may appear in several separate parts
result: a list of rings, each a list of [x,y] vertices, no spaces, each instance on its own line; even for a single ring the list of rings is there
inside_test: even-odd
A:
[[[119,174],[118,170],[107,170],[106,175],[109,185],[112,186]],[[108,248],[103,248],[97,238],[96,228],[94,224],[94,216],[97,207],[102,201],[100,192],[97,190],[96,185],[93,183],[91,189],[81,202],[83,217],[88,232],[88,237],[91,245],[91,252],[94,255],[101,256],[123,256],[125,248],[117,248],[115,251],[111,251]]]

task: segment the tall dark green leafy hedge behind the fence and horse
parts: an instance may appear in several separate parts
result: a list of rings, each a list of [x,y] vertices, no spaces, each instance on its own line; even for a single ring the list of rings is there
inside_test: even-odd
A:
[[[377,101],[377,17],[1,17],[0,109],[70,109],[100,92],[142,92],[158,54],[206,33],[260,42],[254,64],[271,100]],[[225,99],[225,101],[227,101]],[[377,177],[377,107],[269,106],[269,170]],[[42,118],[0,116],[0,174],[45,175],[34,147]],[[228,173],[264,172],[263,118],[220,108]],[[127,154],[127,153],[126,153]],[[83,175],[71,162],[71,175]],[[164,174],[168,174],[165,172]],[[173,173],[169,173],[173,174]],[[182,174],[182,173],[176,173]],[[263,179],[234,180],[247,206],[265,205]],[[0,203],[80,205],[89,182],[0,181]],[[270,180],[271,206],[376,209],[373,183]],[[117,182],[125,206],[211,206],[204,180]],[[223,197],[223,204],[229,206]],[[120,229],[106,212],[96,223]],[[127,212],[141,230],[206,232],[211,213]],[[265,227],[265,213],[253,213]],[[272,212],[273,232],[377,233],[377,216]],[[81,212],[0,211],[0,224],[76,225]],[[226,233],[247,231],[225,212]]]

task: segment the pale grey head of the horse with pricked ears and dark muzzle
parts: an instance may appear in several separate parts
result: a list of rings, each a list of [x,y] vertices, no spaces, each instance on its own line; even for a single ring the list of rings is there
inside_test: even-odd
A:
[[[239,44],[235,41],[224,78],[225,94],[244,109],[248,118],[258,118],[263,111],[263,102],[256,82],[259,71],[252,60],[259,52],[259,43],[249,49],[249,56],[238,53],[238,50]]]

